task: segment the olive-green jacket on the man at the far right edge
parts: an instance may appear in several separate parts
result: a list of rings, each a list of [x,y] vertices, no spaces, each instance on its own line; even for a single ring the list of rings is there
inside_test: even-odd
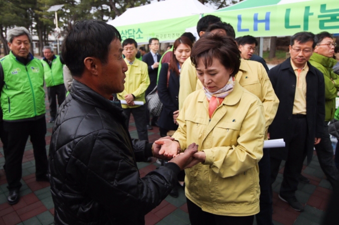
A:
[[[334,58],[329,58],[318,53],[313,53],[310,58],[312,66],[324,75],[325,80],[325,121],[330,121],[335,116],[336,97],[339,91],[339,76],[333,72],[332,67],[337,63]]]

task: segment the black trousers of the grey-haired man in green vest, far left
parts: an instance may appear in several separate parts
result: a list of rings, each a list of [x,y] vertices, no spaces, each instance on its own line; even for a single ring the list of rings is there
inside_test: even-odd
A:
[[[46,154],[46,118],[43,116],[34,121],[7,122],[3,121],[4,130],[8,134],[8,145],[5,151],[5,173],[8,190],[21,187],[22,157],[25,145],[30,136],[35,159],[35,177],[47,174],[48,161]]]

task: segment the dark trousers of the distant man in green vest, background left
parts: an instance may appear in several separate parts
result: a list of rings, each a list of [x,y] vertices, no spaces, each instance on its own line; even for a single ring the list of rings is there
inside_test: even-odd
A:
[[[66,88],[64,84],[47,87],[47,95],[49,101],[49,113],[51,117],[55,118],[56,108],[56,96],[58,96],[58,105],[60,106],[66,98]]]

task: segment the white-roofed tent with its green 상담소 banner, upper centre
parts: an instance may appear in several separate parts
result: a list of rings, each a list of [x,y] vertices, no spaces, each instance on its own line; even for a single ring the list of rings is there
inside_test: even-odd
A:
[[[119,30],[123,40],[147,44],[157,37],[160,42],[173,42],[186,28],[196,26],[203,13],[212,11],[198,0],[166,0],[129,8],[107,23]]]

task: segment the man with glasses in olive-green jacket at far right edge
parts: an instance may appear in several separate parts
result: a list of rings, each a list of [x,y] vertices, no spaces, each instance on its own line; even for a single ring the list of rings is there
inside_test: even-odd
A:
[[[310,58],[310,63],[323,73],[325,79],[325,122],[324,134],[321,142],[316,145],[320,167],[324,171],[332,187],[339,180],[339,172],[333,160],[333,147],[329,134],[328,123],[334,118],[336,111],[336,97],[339,91],[339,76],[333,72],[337,60],[333,58],[336,43],[328,32],[316,35],[316,47]]]

